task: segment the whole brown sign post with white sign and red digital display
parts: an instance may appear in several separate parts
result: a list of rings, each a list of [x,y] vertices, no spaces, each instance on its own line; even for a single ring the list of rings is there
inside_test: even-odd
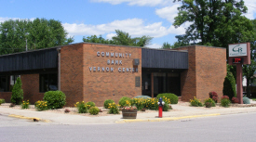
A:
[[[243,104],[243,67],[250,64],[250,45],[249,43],[228,45],[228,64],[236,65],[236,97],[239,104]]]

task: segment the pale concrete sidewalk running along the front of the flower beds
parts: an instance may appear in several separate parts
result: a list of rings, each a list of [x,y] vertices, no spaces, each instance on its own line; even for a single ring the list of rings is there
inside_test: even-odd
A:
[[[254,102],[253,102],[254,103]],[[136,122],[162,122],[175,121],[187,118],[207,117],[216,115],[227,115],[236,113],[256,112],[256,107],[245,108],[222,108],[216,107],[206,109],[204,107],[190,107],[179,104],[171,105],[171,111],[164,111],[163,118],[158,118],[158,111],[148,113],[137,113],[137,119],[122,119],[122,114],[111,116],[88,117],[64,113],[54,113],[49,111],[16,110],[10,108],[0,108],[0,114],[17,117],[21,119],[36,119],[46,123],[55,124],[100,124],[100,123],[136,123]]]

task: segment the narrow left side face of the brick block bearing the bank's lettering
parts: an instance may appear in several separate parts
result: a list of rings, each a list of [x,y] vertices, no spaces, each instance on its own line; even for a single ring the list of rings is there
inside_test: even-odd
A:
[[[66,95],[66,106],[84,100],[83,53],[83,44],[61,47],[61,91]]]

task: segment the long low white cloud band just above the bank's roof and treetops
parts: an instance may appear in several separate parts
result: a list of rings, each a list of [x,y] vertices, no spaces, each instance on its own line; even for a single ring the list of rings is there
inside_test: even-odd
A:
[[[128,32],[132,37],[138,37],[142,35],[149,35],[151,37],[162,37],[168,35],[169,33],[184,33],[183,27],[180,27],[178,29],[175,29],[173,26],[165,27],[162,25],[162,22],[145,24],[142,19],[114,20],[113,22],[100,25],[63,23],[63,26],[71,36],[93,34],[100,35],[106,33],[108,39],[112,36],[115,36],[115,30]]]

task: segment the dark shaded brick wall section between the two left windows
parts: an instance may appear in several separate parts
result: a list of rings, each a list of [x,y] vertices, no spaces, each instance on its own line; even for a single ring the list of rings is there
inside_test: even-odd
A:
[[[39,74],[20,75],[23,98],[29,99],[32,104],[37,100],[43,100],[44,93],[39,93]]]

